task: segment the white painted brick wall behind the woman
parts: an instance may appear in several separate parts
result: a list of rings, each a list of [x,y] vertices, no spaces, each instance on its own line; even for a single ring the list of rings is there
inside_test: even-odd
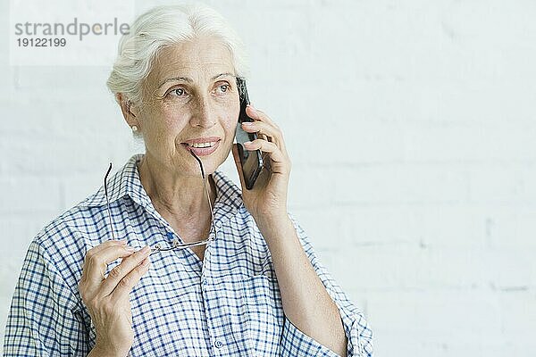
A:
[[[250,96],[293,161],[289,208],[377,354],[536,353],[536,2],[208,4],[247,43]],[[2,331],[29,241],[137,150],[108,71],[0,51]]]

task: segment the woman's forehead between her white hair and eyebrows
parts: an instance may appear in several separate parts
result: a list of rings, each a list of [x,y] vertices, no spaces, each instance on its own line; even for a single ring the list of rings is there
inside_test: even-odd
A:
[[[205,81],[220,73],[235,73],[229,48],[215,38],[198,38],[163,47],[147,81],[157,88],[169,78]]]

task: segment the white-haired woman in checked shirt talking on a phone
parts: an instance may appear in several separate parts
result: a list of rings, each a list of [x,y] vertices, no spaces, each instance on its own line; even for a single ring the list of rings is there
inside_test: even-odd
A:
[[[270,169],[245,187],[246,74],[239,38],[205,6],[134,22],[108,87],[146,153],[33,240],[4,355],[372,355],[363,314],[287,213],[281,129],[252,106],[244,146]],[[242,190],[217,170],[231,148]]]

